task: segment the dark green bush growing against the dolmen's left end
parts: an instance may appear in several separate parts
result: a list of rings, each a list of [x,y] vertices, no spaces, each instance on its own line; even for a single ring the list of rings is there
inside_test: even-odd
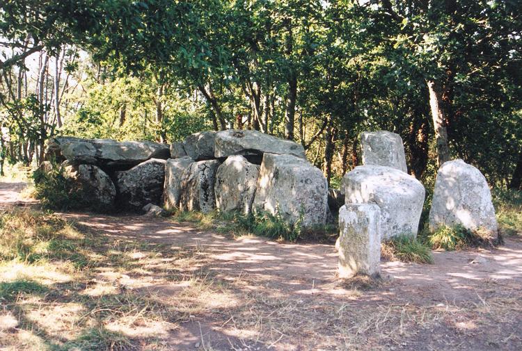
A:
[[[53,164],[50,170],[35,170],[33,181],[33,196],[45,209],[67,211],[84,206],[83,192],[68,181],[62,165]]]

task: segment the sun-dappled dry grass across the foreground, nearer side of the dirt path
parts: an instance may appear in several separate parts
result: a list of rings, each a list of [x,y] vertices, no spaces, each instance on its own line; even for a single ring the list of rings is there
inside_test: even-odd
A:
[[[464,304],[388,298],[393,282],[368,277],[296,293],[285,284],[304,280],[223,270],[200,246],[109,240],[36,212],[2,216],[3,235],[24,245],[2,244],[1,350],[171,350],[170,338],[191,323],[202,328],[199,350],[413,350],[422,335],[449,342],[479,330],[507,350],[520,340],[494,329],[519,325],[520,291],[494,281]],[[205,336],[205,325],[230,344]]]

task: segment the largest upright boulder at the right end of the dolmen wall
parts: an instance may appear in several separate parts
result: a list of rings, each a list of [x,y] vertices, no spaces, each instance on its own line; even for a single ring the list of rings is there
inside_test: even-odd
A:
[[[321,170],[292,155],[264,154],[253,209],[303,227],[326,223],[328,184]]]

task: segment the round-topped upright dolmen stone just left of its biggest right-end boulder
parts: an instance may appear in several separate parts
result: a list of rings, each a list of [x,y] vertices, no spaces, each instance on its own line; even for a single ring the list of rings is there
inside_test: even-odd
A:
[[[216,173],[216,207],[223,212],[250,213],[258,176],[258,165],[243,156],[229,156]]]

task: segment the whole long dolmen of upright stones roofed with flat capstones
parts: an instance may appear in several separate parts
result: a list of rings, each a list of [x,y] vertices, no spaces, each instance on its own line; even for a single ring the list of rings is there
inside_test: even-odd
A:
[[[259,131],[203,131],[171,145],[62,137],[47,157],[68,166],[91,209],[268,212],[302,228],[330,213],[326,178],[303,146]]]

